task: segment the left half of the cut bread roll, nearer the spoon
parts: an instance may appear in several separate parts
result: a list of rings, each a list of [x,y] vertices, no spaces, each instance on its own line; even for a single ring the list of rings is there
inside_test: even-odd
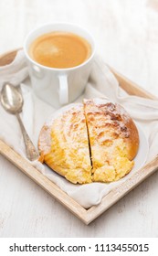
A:
[[[91,182],[90,148],[81,103],[69,105],[43,126],[38,147],[43,161],[70,182]]]

